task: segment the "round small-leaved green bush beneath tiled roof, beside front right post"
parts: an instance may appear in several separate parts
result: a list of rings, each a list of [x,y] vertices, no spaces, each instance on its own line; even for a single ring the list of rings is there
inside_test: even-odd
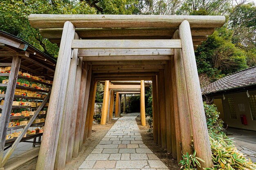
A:
[[[208,130],[217,134],[221,133],[223,121],[219,119],[220,112],[218,112],[217,107],[214,104],[206,104],[204,102],[204,112]]]

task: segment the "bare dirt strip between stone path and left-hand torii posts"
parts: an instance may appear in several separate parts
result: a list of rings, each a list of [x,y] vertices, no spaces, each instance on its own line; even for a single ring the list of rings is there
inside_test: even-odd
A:
[[[116,120],[109,121],[106,125],[93,125],[92,126],[92,137],[90,137],[83,145],[82,151],[79,153],[77,158],[65,166],[65,170],[77,170],[83,163],[85,158],[92,152],[92,150],[99,144],[101,139],[106,135],[108,130],[115,124]]]

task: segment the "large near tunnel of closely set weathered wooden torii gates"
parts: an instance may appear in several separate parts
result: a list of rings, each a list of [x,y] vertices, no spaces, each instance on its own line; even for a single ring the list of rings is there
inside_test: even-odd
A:
[[[194,49],[224,16],[31,14],[29,22],[59,46],[36,170],[62,170],[78,156],[97,81],[106,80],[151,80],[154,141],[180,160],[193,140],[202,168],[211,167]]]

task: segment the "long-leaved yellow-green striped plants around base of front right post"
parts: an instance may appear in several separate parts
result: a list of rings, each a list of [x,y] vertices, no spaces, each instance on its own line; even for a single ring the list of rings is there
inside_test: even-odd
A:
[[[216,135],[213,131],[209,131],[209,138],[211,144],[211,159],[213,161],[212,168],[204,168],[204,170],[256,170],[256,164],[250,159],[246,159],[245,155],[238,152],[231,139],[225,135]],[[182,170],[197,170],[196,166],[200,166],[198,160],[204,162],[202,159],[193,155],[182,156],[180,163]]]

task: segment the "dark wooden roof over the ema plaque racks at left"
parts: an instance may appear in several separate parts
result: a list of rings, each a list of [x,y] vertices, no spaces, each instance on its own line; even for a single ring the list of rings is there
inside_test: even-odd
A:
[[[53,80],[56,60],[14,35],[0,31],[0,61],[11,63],[12,56],[22,56],[20,69]]]

